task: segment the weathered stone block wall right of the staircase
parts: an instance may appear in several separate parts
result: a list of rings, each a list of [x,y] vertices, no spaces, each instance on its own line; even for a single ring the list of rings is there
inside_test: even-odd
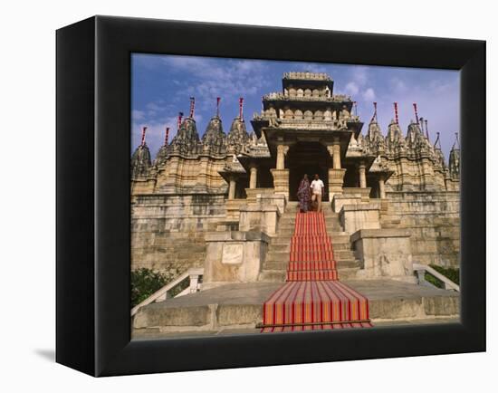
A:
[[[389,192],[387,197],[381,226],[410,230],[414,263],[459,265],[458,192]]]

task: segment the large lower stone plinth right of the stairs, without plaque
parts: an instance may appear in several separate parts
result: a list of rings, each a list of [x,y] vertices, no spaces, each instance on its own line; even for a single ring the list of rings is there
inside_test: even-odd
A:
[[[362,264],[357,278],[416,283],[410,236],[404,229],[361,229],[351,235],[355,257]]]

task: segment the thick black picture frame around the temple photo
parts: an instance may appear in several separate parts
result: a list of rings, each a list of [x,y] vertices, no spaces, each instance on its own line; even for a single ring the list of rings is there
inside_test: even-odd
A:
[[[485,350],[485,42],[94,16],[56,45],[57,362],[111,376]],[[130,53],[460,70],[461,323],[130,341]]]

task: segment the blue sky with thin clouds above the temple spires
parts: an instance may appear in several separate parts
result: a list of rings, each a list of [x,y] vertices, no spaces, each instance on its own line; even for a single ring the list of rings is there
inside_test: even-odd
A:
[[[163,144],[166,127],[169,141],[177,131],[177,114],[187,116],[189,97],[196,97],[196,124],[202,135],[215,114],[216,97],[221,97],[220,115],[225,132],[238,114],[238,98],[244,97],[244,119],[248,130],[254,112],[262,108],[262,96],[282,91],[283,72],[327,72],[334,80],[334,93],[344,93],[358,102],[358,114],[367,131],[378,102],[378,121],[386,135],[398,102],[399,123],[404,133],[418,115],[428,120],[434,143],[436,131],[447,160],[459,131],[460,77],[457,71],[378,67],[312,62],[274,62],[198,56],[132,54],[131,149],[140,143],[141,128],[148,127],[147,143],[155,157]]]

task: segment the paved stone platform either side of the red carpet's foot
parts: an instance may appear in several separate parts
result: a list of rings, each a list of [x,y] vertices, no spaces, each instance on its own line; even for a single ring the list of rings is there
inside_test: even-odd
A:
[[[457,292],[393,280],[344,283],[369,298],[370,318],[375,326],[458,321]],[[281,285],[229,284],[149,304],[133,320],[133,337],[258,332],[255,325],[263,321],[263,302]]]

